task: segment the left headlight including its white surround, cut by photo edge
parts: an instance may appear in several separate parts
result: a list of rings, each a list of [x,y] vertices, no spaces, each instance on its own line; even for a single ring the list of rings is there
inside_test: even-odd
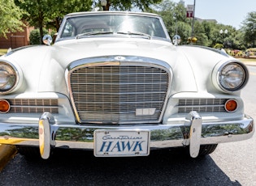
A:
[[[20,87],[23,79],[20,67],[9,61],[0,61],[0,94],[8,94]]]

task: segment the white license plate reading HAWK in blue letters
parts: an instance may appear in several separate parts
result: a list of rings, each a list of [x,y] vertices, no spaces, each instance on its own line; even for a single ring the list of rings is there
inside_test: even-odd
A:
[[[146,156],[150,154],[148,130],[95,130],[94,155],[97,157]]]

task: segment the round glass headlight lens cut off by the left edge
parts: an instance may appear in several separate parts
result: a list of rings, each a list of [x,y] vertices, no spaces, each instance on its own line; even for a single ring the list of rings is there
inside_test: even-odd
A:
[[[0,61],[0,93],[11,91],[17,82],[17,70],[7,62]]]

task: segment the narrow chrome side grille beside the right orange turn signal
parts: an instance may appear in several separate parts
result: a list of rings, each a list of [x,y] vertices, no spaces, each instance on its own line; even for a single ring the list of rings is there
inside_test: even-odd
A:
[[[224,105],[228,99],[180,99],[179,112],[226,112]]]

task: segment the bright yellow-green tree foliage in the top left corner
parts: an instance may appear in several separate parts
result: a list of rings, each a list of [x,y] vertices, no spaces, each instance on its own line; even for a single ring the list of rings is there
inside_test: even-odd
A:
[[[7,37],[8,32],[21,31],[23,11],[15,6],[14,0],[0,0],[0,36]]]

